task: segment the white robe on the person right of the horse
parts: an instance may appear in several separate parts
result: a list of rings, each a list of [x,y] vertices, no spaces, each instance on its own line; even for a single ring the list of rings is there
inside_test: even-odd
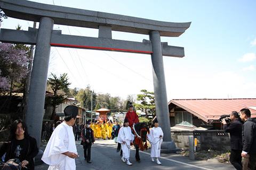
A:
[[[161,143],[163,141],[163,138],[160,140],[160,135],[164,136],[164,133],[160,127],[152,128],[150,130],[150,133],[148,134],[148,140],[150,141],[151,144],[151,157],[160,157]]]

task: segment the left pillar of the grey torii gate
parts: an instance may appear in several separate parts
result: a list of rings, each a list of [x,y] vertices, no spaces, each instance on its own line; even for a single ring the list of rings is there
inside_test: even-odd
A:
[[[38,148],[40,147],[44,116],[42,111],[44,111],[52,29],[53,20],[51,18],[42,17],[40,19],[36,40],[36,49],[29,89],[28,109],[26,114],[26,123],[29,128],[29,133],[33,134],[33,137],[37,140]]]

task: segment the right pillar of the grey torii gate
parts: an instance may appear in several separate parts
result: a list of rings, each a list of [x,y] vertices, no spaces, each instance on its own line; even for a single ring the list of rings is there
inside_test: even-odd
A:
[[[171,137],[171,125],[168,110],[168,101],[166,95],[165,77],[164,77],[164,63],[161,46],[161,37],[158,31],[149,32],[149,38],[152,43],[153,53],[151,54],[151,61],[153,66],[153,81],[156,103],[156,115],[159,125],[161,126],[164,138],[161,145],[162,153],[172,153],[180,149],[175,147],[174,141]]]

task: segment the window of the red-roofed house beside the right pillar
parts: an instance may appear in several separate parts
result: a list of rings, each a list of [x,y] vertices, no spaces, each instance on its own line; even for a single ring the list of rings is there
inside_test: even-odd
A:
[[[175,124],[193,126],[192,114],[189,112],[175,112]]]

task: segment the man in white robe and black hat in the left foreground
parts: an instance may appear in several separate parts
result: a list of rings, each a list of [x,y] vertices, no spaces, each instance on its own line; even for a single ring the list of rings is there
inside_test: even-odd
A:
[[[55,128],[44,150],[42,160],[50,165],[49,170],[75,170],[76,150],[73,125],[76,122],[78,109],[69,105],[64,109],[65,120]]]

